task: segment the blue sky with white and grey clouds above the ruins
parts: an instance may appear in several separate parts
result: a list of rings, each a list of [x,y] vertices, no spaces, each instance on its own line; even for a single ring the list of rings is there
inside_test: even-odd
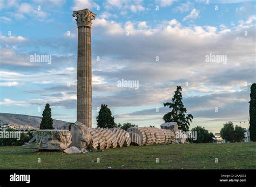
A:
[[[0,112],[76,121],[77,25],[92,25],[93,126],[107,104],[116,123],[163,123],[177,85],[191,127],[246,121],[255,83],[255,2],[239,0],[0,0]],[[51,62],[31,61],[49,55]],[[206,60],[210,57],[210,61]],[[217,55],[223,57],[214,61]],[[139,87],[119,88],[118,81]]]

